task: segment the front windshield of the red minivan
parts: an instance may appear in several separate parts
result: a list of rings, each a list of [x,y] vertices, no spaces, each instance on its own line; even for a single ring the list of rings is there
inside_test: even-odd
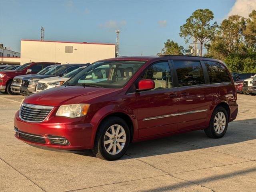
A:
[[[121,88],[144,63],[132,60],[95,62],[70,78],[65,85]]]

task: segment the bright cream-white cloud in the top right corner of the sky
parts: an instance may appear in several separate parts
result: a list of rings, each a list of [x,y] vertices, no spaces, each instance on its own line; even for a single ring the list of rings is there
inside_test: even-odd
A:
[[[238,14],[248,18],[248,14],[254,9],[256,10],[256,0],[236,0],[227,17]]]

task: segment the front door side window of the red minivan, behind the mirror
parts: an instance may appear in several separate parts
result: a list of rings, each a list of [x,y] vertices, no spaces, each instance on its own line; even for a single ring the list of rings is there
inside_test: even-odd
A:
[[[168,62],[158,62],[150,66],[143,74],[142,79],[152,79],[154,89],[172,88],[172,75]]]

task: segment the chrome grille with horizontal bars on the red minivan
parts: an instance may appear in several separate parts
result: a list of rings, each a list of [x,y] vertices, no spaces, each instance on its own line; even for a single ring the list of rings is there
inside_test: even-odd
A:
[[[53,108],[53,106],[22,103],[20,107],[20,119],[26,122],[42,122],[47,118]]]

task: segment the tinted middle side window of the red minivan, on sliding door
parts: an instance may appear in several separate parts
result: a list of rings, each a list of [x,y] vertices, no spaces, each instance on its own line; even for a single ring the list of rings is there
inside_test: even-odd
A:
[[[179,87],[205,84],[199,61],[174,61]]]

